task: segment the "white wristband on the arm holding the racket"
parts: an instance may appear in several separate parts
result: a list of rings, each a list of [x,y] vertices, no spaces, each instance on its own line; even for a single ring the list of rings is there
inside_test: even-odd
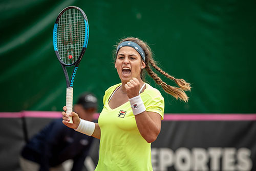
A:
[[[86,135],[93,135],[93,132],[95,130],[95,123],[93,123],[92,121],[88,121],[88,120],[83,120],[80,118],[80,123],[77,127],[77,129],[75,129],[76,131],[86,134]]]

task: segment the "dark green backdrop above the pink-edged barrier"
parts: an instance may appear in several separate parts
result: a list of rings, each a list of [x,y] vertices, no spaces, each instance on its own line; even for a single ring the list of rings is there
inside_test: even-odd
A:
[[[65,105],[66,80],[52,32],[58,13],[67,6],[83,9],[90,27],[74,99],[92,91],[101,111],[104,91],[120,82],[113,45],[134,36],[150,44],[166,72],[193,87],[187,104],[161,91],[165,113],[256,112],[254,0],[1,1],[2,112],[60,111]],[[160,90],[152,79],[148,81]]]

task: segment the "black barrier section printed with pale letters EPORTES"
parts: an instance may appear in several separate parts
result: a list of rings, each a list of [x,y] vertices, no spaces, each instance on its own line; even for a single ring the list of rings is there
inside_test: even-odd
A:
[[[154,171],[256,170],[255,121],[163,121]]]

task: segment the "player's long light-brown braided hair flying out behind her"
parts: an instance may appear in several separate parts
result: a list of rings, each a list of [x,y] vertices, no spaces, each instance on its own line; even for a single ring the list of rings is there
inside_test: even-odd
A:
[[[170,76],[169,74],[167,74],[167,72],[163,71],[160,67],[158,67],[156,65],[156,62],[153,59],[152,56],[152,51],[150,46],[148,46],[144,41],[140,40],[139,38],[134,38],[134,37],[127,37],[124,39],[121,39],[120,42],[116,45],[116,47],[124,42],[124,41],[133,41],[137,44],[139,44],[141,46],[141,48],[143,49],[143,51],[145,52],[145,70],[147,71],[147,74],[150,75],[154,81],[160,85],[163,90],[174,96],[177,100],[180,99],[184,102],[188,101],[188,96],[185,93],[185,91],[188,91],[191,89],[190,84],[187,83],[185,80],[183,79],[176,79],[173,76]],[[116,59],[116,57],[115,57]],[[179,87],[174,87],[174,86],[170,86],[168,84],[166,84],[164,81],[162,81],[162,79],[160,77],[158,77],[158,75],[152,70],[151,66],[154,67],[158,72],[160,72],[162,75],[164,75],[165,77],[167,77],[170,80],[173,80]],[[144,81],[144,69],[141,70],[141,79]]]

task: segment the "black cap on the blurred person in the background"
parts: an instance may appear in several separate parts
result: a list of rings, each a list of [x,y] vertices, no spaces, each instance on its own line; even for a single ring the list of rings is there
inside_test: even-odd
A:
[[[77,104],[81,104],[85,109],[88,109],[88,108],[97,109],[97,106],[98,106],[97,102],[98,100],[96,96],[93,93],[87,92],[79,96]]]

